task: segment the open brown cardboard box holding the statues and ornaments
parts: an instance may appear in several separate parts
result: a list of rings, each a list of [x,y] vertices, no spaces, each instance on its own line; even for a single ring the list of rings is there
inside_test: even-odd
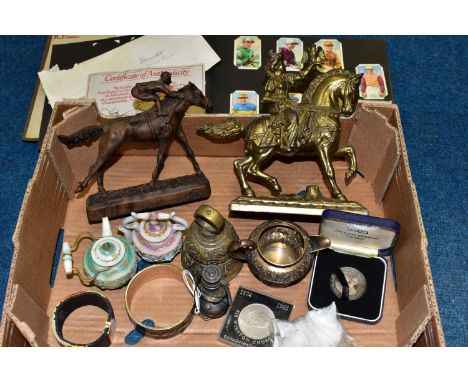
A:
[[[232,162],[243,155],[243,140],[213,143],[196,134],[196,125],[216,122],[226,115],[190,116],[183,121],[188,140],[198,161],[209,178],[212,196],[205,201],[228,216],[229,202],[240,194]],[[249,120],[252,117],[239,117]],[[13,241],[10,280],[3,310],[0,343],[3,346],[58,346],[50,316],[55,305],[65,296],[86,287],[78,278],[67,279],[59,264],[55,285],[50,277],[57,244],[57,234],[64,229],[64,240],[70,241],[81,231],[99,233],[100,224],[89,225],[85,202],[97,191],[95,181],[76,197],[73,190],[83,178],[97,154],[97,142],[91,146],[68,150],[60,144],[57,134],[70,134],[96,123],[97,111],[91,101],[67,101],[58,104],[51,117],[39,161],[23,201]],[[443,346],[440,323],[427,256],[427,240],[419,210],[417,194],[408,166],[398,108],[387,103],[361,102],[355,115],[342,120],[341,143],[349,142],[357,152],[358,168],[364,177],[344,184],[346,162],[334,160],[336,178],[344,193],[369,209],[374,216],[398,221],[401,233],[393,254],[398,290],[388,267],[385,306],[382,320],[376,325],[344,321],[357,344],[363,346]],[[156,162],[156,143],[128,144],[122,156],[106,171],[104,184],[108,189],[141,184],[150,179]],[[191,163],[182,147],[173,143],[161,178],[192,172]],[[307,184],[317,183],[325,191],[323,177],[314,159],[277,160],[268,173],[278,177],[283,192],[295,193]],[[258,193],[267,190],[254,185]],[[193,212],[202,202],[171,208],[178,215],[193,220]],[[229,218],[241,238],[262,222],[259,217]],[[297,221],[310,234],[318,232],[319,218],[304,217]],[[114,232],[121,219],[111,222]],[[75,264],[82,264],[80,253]],[[180,256],[174,263],[180,265]],[[261,291],[295,304],[292,319],[307,312],[310,274],[300,283],[288,288],[272,288],[257,280],[244,265],[231,282],[235,295],[239,285]],[[124,306],[125,288],[105,291],[116,314],[117,331],[113,345],[125,345],[125,336],[133,329]],[[170,311],[168,311],[170,313]],[[67,320],[64,332],[72,340],[86,340],[95,323],[99,328],[102,317],[95,310],[80,309]],[[139,346],[224,346],[217,340],[224,319],[204,321],[195,317],[182,334],[167,340],[144,338]],[[85,338],[86,336],[86,338]]]

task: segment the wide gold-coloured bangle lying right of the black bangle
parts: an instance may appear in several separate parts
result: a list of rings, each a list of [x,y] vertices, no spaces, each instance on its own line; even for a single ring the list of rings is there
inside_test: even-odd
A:
[[[184,278],[182,276],[183,269],[172,264],[156,264],[148,267],[141,272],[137,273],[136,276],[130,281],[125,291],[125,308],[127,310],[128,317],[133,324],[153,338],[170,338],[176,334],[181,333],[190,324],[193,318],[193,308],[195,306],[195,299],[188,291],[185,286]],[[157,278],[172,278],[180,281],[182,284],[183,291],[191,295],[191,303],[187,306],[187,311],[184,316],[176,323],[169,326],[160,326],[156,322],[156,327],[151,327],[143,324],[135,315],[132,313],[132,302],[136,292],[143,287],[146,283],[155,280]]]

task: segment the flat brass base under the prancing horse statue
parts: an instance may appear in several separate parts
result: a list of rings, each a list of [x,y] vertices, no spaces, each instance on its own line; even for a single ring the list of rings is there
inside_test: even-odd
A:
[[[316,185],[307,186],[305,195],[239,196],[229,205],[230,211],[289,215],[321,215],[327,209],[369,214],[359,203],[325,198]]]

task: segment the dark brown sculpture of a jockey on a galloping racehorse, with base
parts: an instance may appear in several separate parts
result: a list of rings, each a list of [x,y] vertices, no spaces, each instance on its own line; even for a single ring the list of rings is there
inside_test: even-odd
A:
[[[159,97],[157,81],[137,84],[132,94],[140,99],[155,100]],[[211,107],[211,102],[191,82],[177,92],[164,92],[166,97],[161,103],[161,110],[156,107],[129,117],[101,118],[101,125],[85,127],[76,133],[58,139],[68,148],[89,144],[99,139],[98,157],[91,165],[86,177],[78,182],[75,193],[83,191],[92,177],[97,174],[99,192],[87,200],[88,219],[100,221],[103,216],[117,217],[143,210],[168,207],[170,205],[193,202],[210,196],[210,186],[198,165],[181,127],[182,118],[191,105],[204,109]],[[195,174],[163,181],[158,181],[164,165],[169,145],[177,138],[192,161]],[[105,166],[112,156],[127,141],[159,141],[159,152],[151,181],[148,184],[121,190],[104,189]],[[91,211],[92,209],[95,211]],[[101,216],[102,215],[102,216]]]

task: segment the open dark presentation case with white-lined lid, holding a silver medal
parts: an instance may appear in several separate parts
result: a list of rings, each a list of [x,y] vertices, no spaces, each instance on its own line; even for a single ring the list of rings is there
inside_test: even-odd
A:
[[[393,220],[325,210],[320,234],[331,240],[331,246],[314,260],[309,308],[324,308],[335,302],[343,318],[370,324],[380,321],[387,279],[387,261],[382,256],[391,256],[399,232],[400,225]],[[359,298],[345,298],[343,284],[341,295],[333,291],[332,284],[339,278],[336,272],[343,268],[354,272],[355,279],[363,276],[364,282],[354,280],[359,285],[351,286],[355,294],[362,294]],[[348,288],[346,280],[343,283]]]

